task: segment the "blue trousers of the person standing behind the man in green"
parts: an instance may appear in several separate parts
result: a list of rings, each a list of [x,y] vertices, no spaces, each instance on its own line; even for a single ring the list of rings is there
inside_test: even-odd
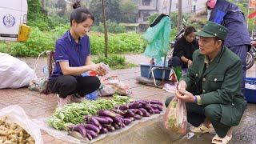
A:
[[[246,54],[249,45],[240,45],[240,46],[229,46],[228,48],[237,54],[242,60],[242,80],[241,80],[241,90],[242,94],[245,95],[245,79],[246,79]]]

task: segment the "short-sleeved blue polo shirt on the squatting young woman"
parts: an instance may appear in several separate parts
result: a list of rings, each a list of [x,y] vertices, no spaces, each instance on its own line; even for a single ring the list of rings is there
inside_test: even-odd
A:
[[[90,55],[89,37],[85,35],[79,38],[79,42],[77,43],[71,36],[70,30],[66,31],[66,33],[56,41],[54,53],[55,65],[49,80],[63,75],[59,62],[69,62],[70,67],[85,66],[88,55]]]

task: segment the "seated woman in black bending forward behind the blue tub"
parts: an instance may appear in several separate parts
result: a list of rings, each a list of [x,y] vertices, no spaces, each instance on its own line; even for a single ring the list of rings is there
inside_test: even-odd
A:
[[[191,66],[193,61],[192,54],[194,50],[198,49],[198,41],[194,34],[195,31],[193,26],[186,27],[182,38],[179,38],[175,43],[171,66],[182,66],[182,69]]]

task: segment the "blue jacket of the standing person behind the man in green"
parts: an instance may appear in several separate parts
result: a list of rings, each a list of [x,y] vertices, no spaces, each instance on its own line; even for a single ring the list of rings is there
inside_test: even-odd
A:
[[[224,46],[250,45],[250,34],[242,11],[233,3],[218,0],[211,10],[209,21],[228,29]]]

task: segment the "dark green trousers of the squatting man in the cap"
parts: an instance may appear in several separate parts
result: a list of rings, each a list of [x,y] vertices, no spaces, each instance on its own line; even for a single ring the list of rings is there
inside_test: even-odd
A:
[[[174,97],[166,98],[166,107]],[[214,126],[214,130],[219,137],[224,138],[230,130],[230,126],[226,126],[220,122],[222,118],[222,109],[220,104],[210,104],[208,106],[199,106],[195,103],[186,103],[187,121],[192,126],[200,126],[205,118],[209,118]]]

